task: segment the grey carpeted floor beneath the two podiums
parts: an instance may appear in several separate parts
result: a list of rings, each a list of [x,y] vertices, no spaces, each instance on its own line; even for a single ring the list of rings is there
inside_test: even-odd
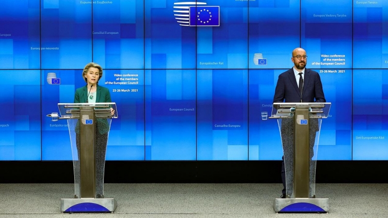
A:
[[[388,184],[317,184],[327,214],[276,214],[281,184],[105,184],[109,214],[62,214],[72,184],[0,184],[0,218],[387,218]]]

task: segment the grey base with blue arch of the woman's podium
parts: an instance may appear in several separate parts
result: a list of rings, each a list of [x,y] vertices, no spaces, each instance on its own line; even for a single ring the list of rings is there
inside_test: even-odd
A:
[[[111,213],[117,207],[113,198],[61,199],[63,213]]]

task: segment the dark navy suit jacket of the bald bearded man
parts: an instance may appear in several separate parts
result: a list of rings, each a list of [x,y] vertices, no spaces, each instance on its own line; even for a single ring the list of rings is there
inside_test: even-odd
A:
[[[277,80],[274,103],[277,102],[326,102],[323,94],[321,77],[318,72],[305,69],[302,97],[296,83],[293,69],[279,75]]]

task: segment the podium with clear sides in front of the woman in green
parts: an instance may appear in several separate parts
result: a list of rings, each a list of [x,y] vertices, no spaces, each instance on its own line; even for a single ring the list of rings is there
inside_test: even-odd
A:
[[[60,103],[60,116],[66,119],[73,156],[74,198],[61,199],[61,212],[113,212],[117,202],[104,198],[106,145],[112,119],[117,118],[115,103]],[[114,114],[111,114],[111,108]]]

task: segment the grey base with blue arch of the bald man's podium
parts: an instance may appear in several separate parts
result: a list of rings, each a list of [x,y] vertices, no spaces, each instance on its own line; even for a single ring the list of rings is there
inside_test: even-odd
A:
[[[278,213],[327,213],[329,199],[327,198],[277,198],[274,202]]]

